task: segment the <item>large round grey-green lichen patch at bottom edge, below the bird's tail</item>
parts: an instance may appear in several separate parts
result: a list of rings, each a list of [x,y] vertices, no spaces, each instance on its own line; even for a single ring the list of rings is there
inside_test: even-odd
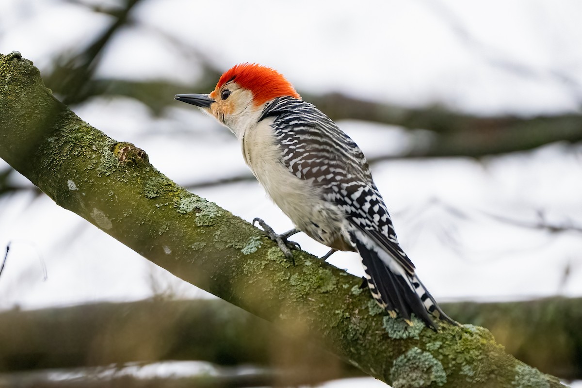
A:
[[[392,388],[424,388],[435,383],[443,386],[446,373],[441,362],[417,347],[396,358],[390,370]]]

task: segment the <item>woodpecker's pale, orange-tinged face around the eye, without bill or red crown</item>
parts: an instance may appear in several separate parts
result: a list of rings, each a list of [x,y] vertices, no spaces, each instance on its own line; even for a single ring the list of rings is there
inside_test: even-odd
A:
[[[261,107],[253,104],[253,93],[234,81],[215,89],[209,97],[215,102],[210,108],[202,109],[229,127],[239,138],[249,125],[257,122],[257,114],[261,113]]]

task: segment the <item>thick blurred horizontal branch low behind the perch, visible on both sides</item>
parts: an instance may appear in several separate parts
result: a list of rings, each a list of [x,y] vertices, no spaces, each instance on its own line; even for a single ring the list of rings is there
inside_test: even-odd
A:
[[[490,328],[509,353],[527,364],[560,378],[582,379],[582,298],[442,307],[462,322]],[[0,371],[201,360],[269,366],[296,376],[294,383],[301,384],[357,374],[313,344],[282,335],[222,300],[154,299],[6,311],[0,314],[0,349]]]

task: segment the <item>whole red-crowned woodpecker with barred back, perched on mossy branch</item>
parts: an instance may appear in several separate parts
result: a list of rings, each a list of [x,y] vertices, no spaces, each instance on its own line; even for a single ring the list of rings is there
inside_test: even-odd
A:
[[[244,161],[295,228],[277,235],[255,219],[286,255],[286,240],[297,232],[331,251],[358,252],[365,283],[389,316],[409,325],[412,315],[438,330],[452,325],[416,275],[403,251],[370,166],[354,141],[317,109],[303,101],[275,69],[239,63],[219,78],[210,94],[176,94],[200,108],[237,137]],[[292,243],[291,243],[292,244]]]

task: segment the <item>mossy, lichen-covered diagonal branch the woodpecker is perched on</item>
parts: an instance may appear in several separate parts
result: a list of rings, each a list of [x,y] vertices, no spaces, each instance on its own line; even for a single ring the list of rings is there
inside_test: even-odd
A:
[[[155,264],[290,335],[315,339],[394,388],[561,386],[505,353],[487,329],[410,327],[385,316],[358,277],[301,251],[290,264],[250,223],[176,186],[143,150],[80,120],[19,53],[0,55],[0,157]]]

